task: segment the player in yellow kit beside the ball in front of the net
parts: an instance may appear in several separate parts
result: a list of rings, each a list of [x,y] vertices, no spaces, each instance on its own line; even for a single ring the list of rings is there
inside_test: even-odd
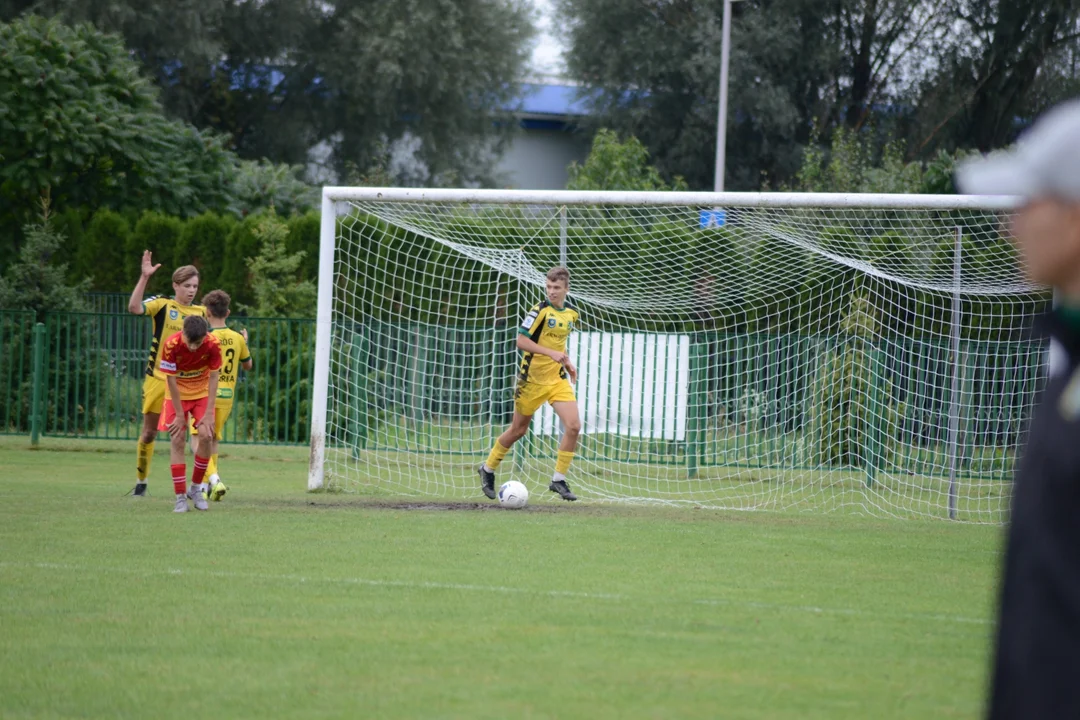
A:
[[[566,473],[570,470],[581,433],[578,397],[571,384],[578,381],[578,369],[566,354],[566,340],[578,324],[579,315],[566,301],[570,291],[570,273],[566,268],[552,268],[544,287],[548,299],[534,305],[517,328],[517,349],[525,354],[517,372],[514,418],[510,427],[495,441],[487,460],[477,468],[484,494],[491,500],[497,497],[495,471],[510,447],[529,431],[534,413],[544,403],[551,403],[564,427],[555,474],[548,489],[557,492],[563,500],[578,499],[566,483]]]

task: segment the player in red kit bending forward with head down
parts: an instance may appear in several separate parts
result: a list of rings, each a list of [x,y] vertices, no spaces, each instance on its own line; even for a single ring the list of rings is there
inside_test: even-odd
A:
[[[217,396],[217,376],[221,368],[221,348],[217,338],[208,332],[203,317],[190,316],[184,321],[184,330],[165,340],[161,351],[161,371],[168,386],[161,430],[167,430],[172,445],[170,456],[173,466],[173,490],[176,507],[173,512],[188,512],[188,499],[195,510],[210,510],[206,502],[206,464],[213,451],[214,398]],[[199,430],[195,446],[195,467],[191,474],[191,489],[187,490],[187,464],[184,461],[184,441],[188,432],[188,417]]]

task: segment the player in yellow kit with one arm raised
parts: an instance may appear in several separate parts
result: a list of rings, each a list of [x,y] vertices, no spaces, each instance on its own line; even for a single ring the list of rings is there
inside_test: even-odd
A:
[[[150,461],[153,460],[153,441],[158,437],[158,420],[165,399],[165,376],[159,367],[162,343],[184,329],[185,317],[204,314],[202,305],[192,304],[199,291],[199,270],[194,266],[184,266],[173,272],[175,297],[143,299],[147,283],[160,267],[160,262],[153,263],[150,250],[143,253],[141,273],[127,300],[127,312],[147,315],[153,322],[150,356],[146,364],[146,380],[143,381],[143,430],[139,433],[135,463],[135,489],[131,493],[136,498],[146,494],[146,478],[150,474]]]

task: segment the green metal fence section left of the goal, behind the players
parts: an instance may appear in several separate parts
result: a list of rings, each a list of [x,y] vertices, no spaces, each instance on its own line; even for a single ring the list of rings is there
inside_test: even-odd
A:
[[[134,440],[141,426],[150,323],[127,313],[0,312],[3,432]],[[230,323],[230,325],[232,325]],[[303,445],[310,436],[314,321],[245,318],[255,367],[240,370],[222,435]],[[37,329],[36,329],[37,328]],[[33,350],[41,367],[33,371]],[[38,402],[33,394],[38,393]],[[32,408],[40,422],[32,422]]]

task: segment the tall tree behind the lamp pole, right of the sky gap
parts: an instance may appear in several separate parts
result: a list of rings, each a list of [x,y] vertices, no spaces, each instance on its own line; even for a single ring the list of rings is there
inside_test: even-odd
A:
[[[708,188],[716,137],[721,0],[559,0],[572,74],[598,91],[598,124],[640,138],[667,177]],[[789,177],[828,98],[835,23],[814,0],[735,5],[728,185]]]

